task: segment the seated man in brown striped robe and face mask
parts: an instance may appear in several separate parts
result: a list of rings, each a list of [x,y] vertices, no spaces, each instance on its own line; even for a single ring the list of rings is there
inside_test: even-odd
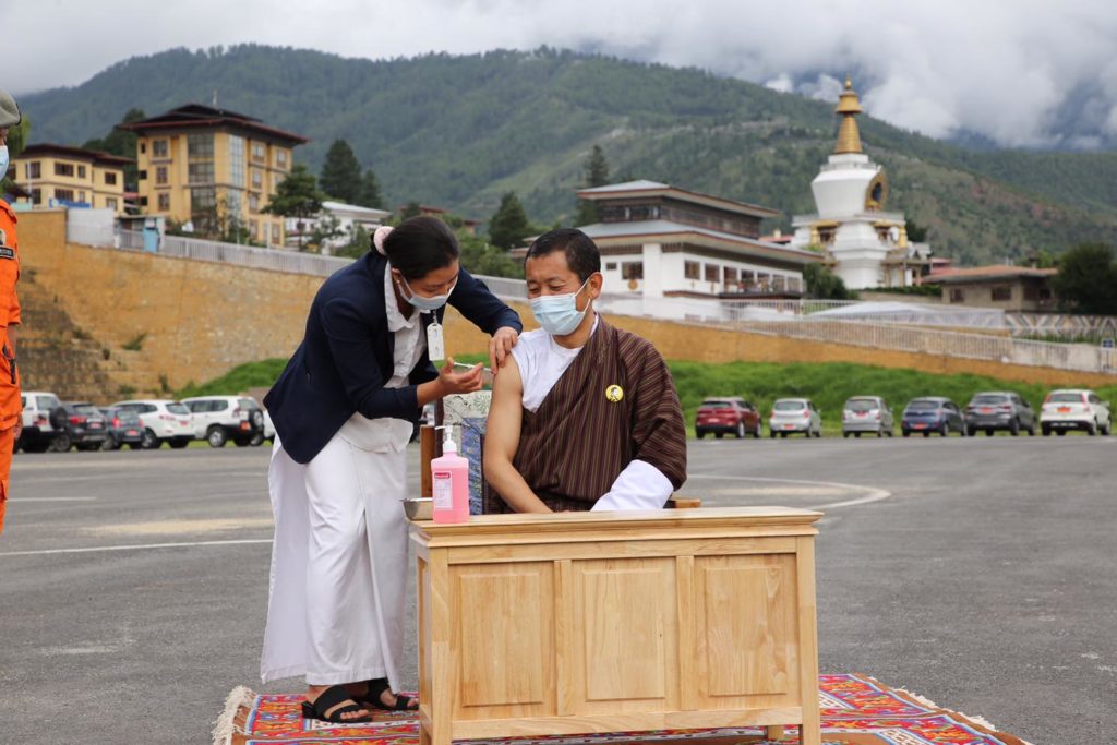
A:
[[[540,236],[524,259],[542,328],[493,383],[486,512],[659,509],[686,480],[682,410],[650,342],[596,314],[601,254],[581,230]]]

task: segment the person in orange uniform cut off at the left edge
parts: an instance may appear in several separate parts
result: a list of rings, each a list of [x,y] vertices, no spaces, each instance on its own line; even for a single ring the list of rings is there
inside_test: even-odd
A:
[[[0,90],[0,179],[8,173],[8,127],[20,123],[19,106]],[[23,404],[19,398],[19,372],[16,367],[16,328],[19,326],[19,250],[16,241],[16,212],[0,198],[0,533],[8,504],[8,474],[11,455],[23,429]]]

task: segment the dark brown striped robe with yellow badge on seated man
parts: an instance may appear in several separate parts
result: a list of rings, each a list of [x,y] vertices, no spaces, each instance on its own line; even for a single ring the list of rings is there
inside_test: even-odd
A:
[[[667,363],[650,342],[603,318],[538,410],[523,417],[513,465],[556,512],[590,509],[633,460],[675,489],[686,481],[686,427]],[[485,512],[512,512],[491,487],[487,497]]]

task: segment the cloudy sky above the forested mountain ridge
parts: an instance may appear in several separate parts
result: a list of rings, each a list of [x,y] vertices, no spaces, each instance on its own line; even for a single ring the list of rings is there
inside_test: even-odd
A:
[[[15,92],[171,47],[380,59],[545,44],[825,98],[852,71],[870,113],[936,137],[1117,142],[1113,0],[2,0],[0,23]]]

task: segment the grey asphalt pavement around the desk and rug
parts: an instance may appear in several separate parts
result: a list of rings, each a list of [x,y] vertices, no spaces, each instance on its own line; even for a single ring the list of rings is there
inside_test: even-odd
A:
[[[258,680],[267,456],[17,457],[0,742],[209,742],[226,694]],[[823,671],[1038,745],[1113,742],[1117,438],[707,440],[690,472],[706,504],[827,510]]]

